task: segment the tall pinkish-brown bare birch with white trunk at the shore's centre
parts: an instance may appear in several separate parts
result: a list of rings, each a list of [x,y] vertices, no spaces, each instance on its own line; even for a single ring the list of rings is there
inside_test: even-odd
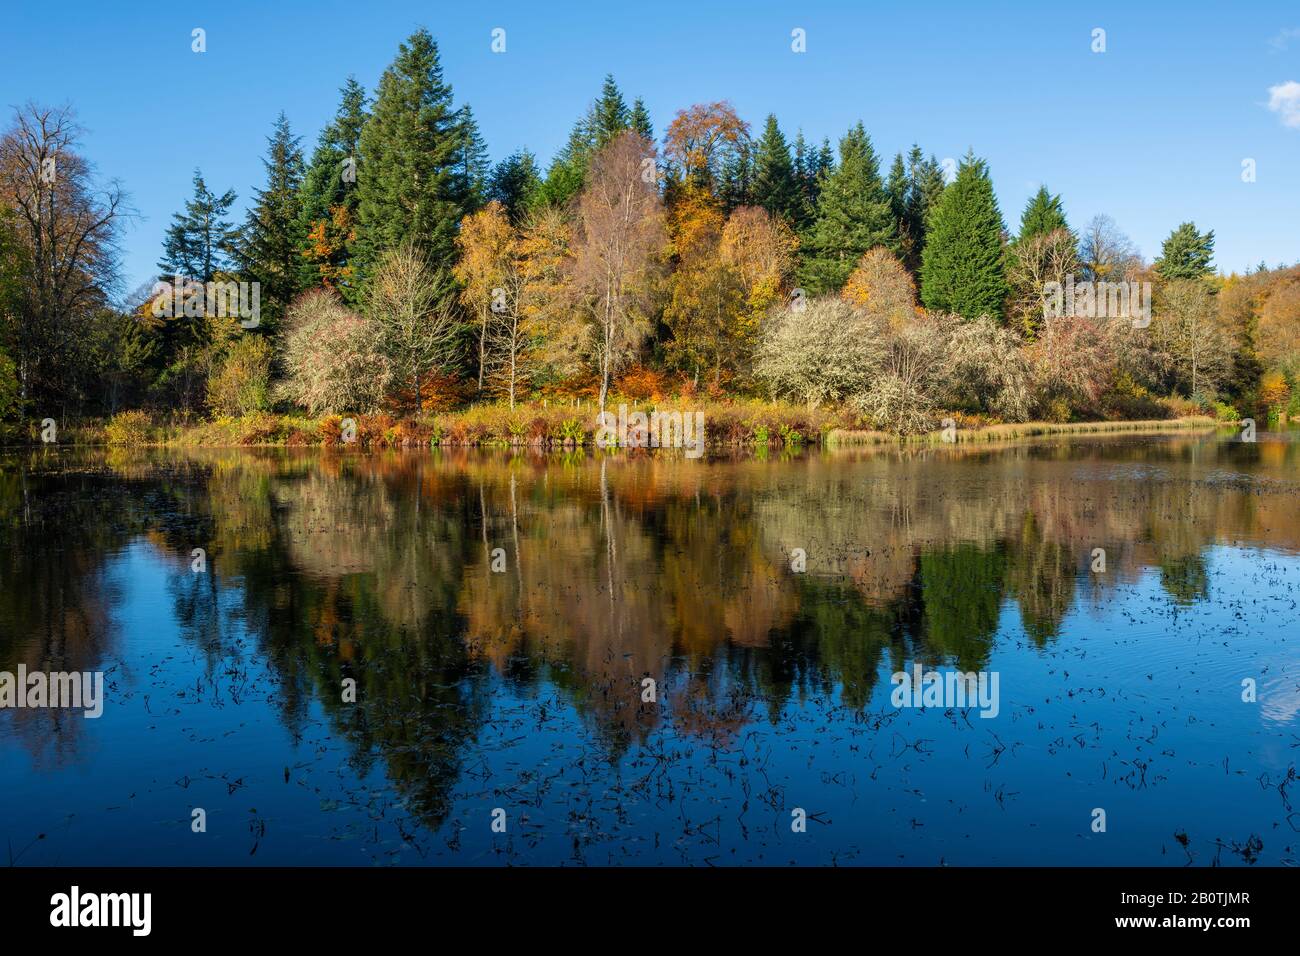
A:
[[[592,160],[573,243],[575,287],[597,325],[602,411],[610,380],[650,332],[646,304],[664,243],[654,146],[625,130]]]

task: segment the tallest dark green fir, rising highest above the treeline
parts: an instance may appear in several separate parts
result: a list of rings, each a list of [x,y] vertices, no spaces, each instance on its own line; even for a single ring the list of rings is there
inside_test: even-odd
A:
[[[380,78],[360,147],[356,259],[363,276],[407,241],[434,268],[450,264],[467,212],[459,172],[465,129],[428,30],[412,34]]]

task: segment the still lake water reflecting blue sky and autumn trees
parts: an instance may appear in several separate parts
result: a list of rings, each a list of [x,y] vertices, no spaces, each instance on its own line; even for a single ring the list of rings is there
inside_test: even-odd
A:
[[[105,700],[0,710],[0,852],[1295,865],[1297,466],[1262,433],[10,454],[0,670]],[[916,665],[996,675],[996,715],[896,706]]]

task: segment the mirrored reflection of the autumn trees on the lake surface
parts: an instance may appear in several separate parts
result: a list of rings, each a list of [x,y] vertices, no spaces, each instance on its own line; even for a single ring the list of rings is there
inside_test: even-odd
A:
[[[754,760],[755,734],[768,747],[796,739],[792,714],[818,732],[840,721],[879,730],[889,719],[880,715],[887,675],[909,662],[982,670],[1005,646],[1050,670],[1060,661],[1043,654],[1074,654],[1057,648],[1071,615],[1083,622],[1072,635],[1122,636],[1130,611],[1115,610],[1115,596],[1148,572],[1164,594],[1148,614],[1175,622],[1201,609],[1202,624],[1230,630],[1230,609],[1247,596],[1213,594],[1214,554],[1258,549],[1294,571],[1297,449],[1200,437],[712,462],[42,453],[0,472],[0,667],[117,667],[110,697],[114,679],[139,689],[150,657],[122,646],[139,635],[120,620],[134,606],[135,619],[170,631],[196,662],[185,687],[162,682],[170,696],[226,695],[230,710],[256,698],[295,748],[322,721],[329,740],[346,745],[346,770],[334,773],[342,783],[313,784],[322,806],[352,800],[393,823],[373,791],[358,792],[382,775],[408,814],[395,823],[400,842],[424,860],[462,852],[460,817],[476,790],[532,806],[538,821],[567,806],[576,847],[599,844],[611,816],[638,839],[654,830],[658,847],[655,827],[684,799],[681,782],[663,790],[671,774],[662,765],[741,754],[731,784],[710,784],[714,801],[741,817],[784,806],[790,784],[758,792],[740,770]],[[142,545],[147,561],[122,572],[122,555]],[[195,548],[204,574],[191,570]],[[1098,548],[1102,574],[1089,567]],[[806,554],[802,574],[792,570],[796,549]],[[133,605],[142,578],[160,584],[165,614]],[[1295,576],[1286,580],[1290,588]],[[1141,663],[1144,653],[1121,657]],[[654,704],[642,700],[645,678],[656,682]],[[355,704],[341,693],[346,679],[356,682]],[[1235,683],[1236,671],[1225,679]],[[1270,695],[1265,713],[1294,724],[1295,695]],[[46,710],[0,722],[44,771],[32,786],[60,786],[58,767],[78,760],[81,719]],[[897,760],[897,744],[879,736],[874,760]],[[296,757],[265,735],[261,743],[289,782]],[[528,747],[552,753],[528,770],[502,756]],[[846,757],[867,744],[844,747]],[[564,800],[547,791],[542,767]],[[836,771],[818,773],[826,786]],[[578,793],[588,809],[575,825]],[[599,806],[601,793],[619,799]],[[620,817],[632,796],[640,819]],[[698,843],[710,831],[685,832]],[[528,825],[516,839],[529,843]],[[313,860],[306,840],[286,853]],[[708,857],[697,847],[682,858]]]

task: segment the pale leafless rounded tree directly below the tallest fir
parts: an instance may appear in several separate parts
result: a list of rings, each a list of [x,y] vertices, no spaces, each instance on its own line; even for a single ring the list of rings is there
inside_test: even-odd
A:
[[[411,390],[419,411],[422,380],[450,368],[458,352],[450,280],[406,242],[389,251],[374,271],[367,313],[377,325],[378,347],[394,381]]]

